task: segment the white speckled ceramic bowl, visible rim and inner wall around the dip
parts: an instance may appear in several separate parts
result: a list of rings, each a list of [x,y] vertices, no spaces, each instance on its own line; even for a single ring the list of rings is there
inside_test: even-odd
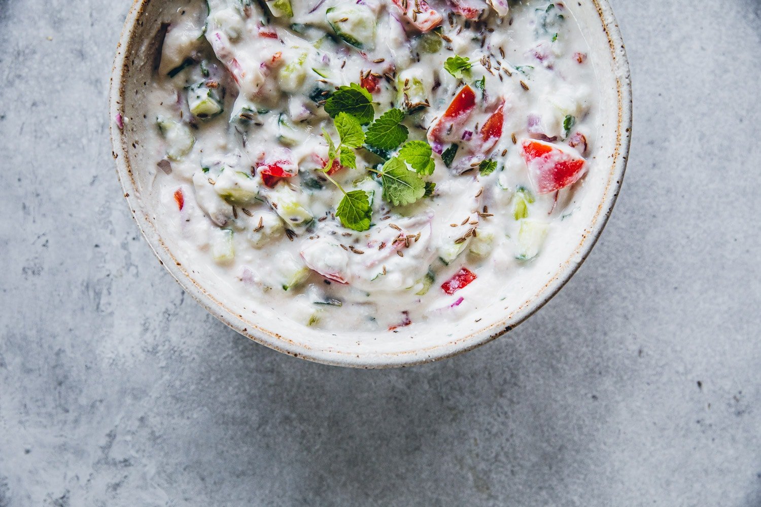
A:
[[[318,363],[359,368],[409,366],[440,360],[492,341],[540,309],[575,273],[605,227],[626,170],[632,126],[629,62],[616,18],[607,0],[580,0],[566,5],[581,25],[591,48],[600,87],[600,125],[594,141],[594,164],[584,177],[581,206],[562,233],[547,239],[545,252],[530,270],[511,278],[503,301],[457,323],[428,322],[397,333],[333,333],[306,328],[275,312],[254,313],[245,302],[224,299],[224,287],[210,273],[183,263],[185,256],[157,220],[158,195],[151,188],[155,170],[140,140],[143,122],[141,90],[151,81],[156,33],[176,0],[135,0],[127,15],[110,90],[111,139],[116,170],[132,215],[164,268],[205,309],[253,341]],[[150,116],[150,115],[148,115]],[[119,118],[124,119],[119,128]],[[137,141],[135,143],[135,141]]]

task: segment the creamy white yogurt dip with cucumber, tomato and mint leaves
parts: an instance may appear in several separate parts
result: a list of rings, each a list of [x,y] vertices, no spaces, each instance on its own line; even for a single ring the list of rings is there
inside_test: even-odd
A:
[[[595,169],[562,2],[198,0],[167,21],[145,116],[161,220],[254,312],[457,321],[552,253]]]

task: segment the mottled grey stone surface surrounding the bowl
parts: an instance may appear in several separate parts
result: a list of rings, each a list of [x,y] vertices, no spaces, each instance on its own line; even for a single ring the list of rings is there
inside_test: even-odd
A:
[[[761,505],[761,2],[617,0],[619,204],[510,337],[393,371],[207,315],[121,197],[126,0],[0,0],[0,507]]]

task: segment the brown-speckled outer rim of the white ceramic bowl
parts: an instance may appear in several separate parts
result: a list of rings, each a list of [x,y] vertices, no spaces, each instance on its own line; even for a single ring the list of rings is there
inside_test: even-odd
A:
[[[110,109],[110,134],[113,149],[113,158],[116,161],[116,173],[124,191],[132,217],[148,242],[148,245],[158,257],[161,265],[177,280],[177,283],[186,290],[193,299],[208,310],[216,318],[224,322],[230,328],[266,347],[279,352],[295,356],[304,360],[314,361],[333,366],[349,366],[354,368],[393,368],[413,366],[422,363],[446,359],[457,354],[473,350],[489,341],[506,334],[517,325],[544,306],[549,299],[570,280],[581,264],[586,260],[594,244],[602,233],[616,198],[619,195],[623,176],[626,172],[626,162],[629,157],[629,145],[632,132],[632,82],[629,74],[629,60],[626,58],[626,49],[623,45],[621,32],[616,17],[613,14],[608,0],[591,0],[597,9],[597,14],[602,22],[603,30],[608,39],[610,55],[613,58],[613,72],[616,74],[616,87],[618,92],[618,122],[616,125],[616,149],[613,152],[613,163],[610,167],[610,176],[607,181],[603,198],[600,201],[597,212],[591,220],[591,227],[587,227],[578,246],[559,266],[556,274],[527,304],[514,312],[508,313],[497,325],[488,327],[464,337],[447,341],[433,347],[420,347],[416,350],[405,350],[396,353],[355,353],[341,350],[320,350],[309,347],[295,339],[281,336],[263,327],[263,323],[252,325],[246,322],[240,315],[228,309],[223,301],[216,299],[203,287],[189,276],[185,268],[174,258],[168,246],[164,243],[158,230],[149,220],[143,201],[139,198],[139,192],[135,184],[132,167],[127,156],[128,140],[126,129],[116,127],[116,118],[123,115],[123,97],[126,88],[126,78],[129,74],[129,55],[135,49],[139,41],[135,40],[135,30],[139,24],[142,12],[151,0],[134,0],[132,8],[127,14],[119,45],[116,47],[116,57],[111,74],[109,109]]]

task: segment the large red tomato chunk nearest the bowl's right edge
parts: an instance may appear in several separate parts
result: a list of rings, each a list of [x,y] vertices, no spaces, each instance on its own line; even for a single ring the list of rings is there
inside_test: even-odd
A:
[[[524,139],[521,156],[539,194],[549,194],[573,185],[584,175],[586,160],[577,153],[546,141]]]

